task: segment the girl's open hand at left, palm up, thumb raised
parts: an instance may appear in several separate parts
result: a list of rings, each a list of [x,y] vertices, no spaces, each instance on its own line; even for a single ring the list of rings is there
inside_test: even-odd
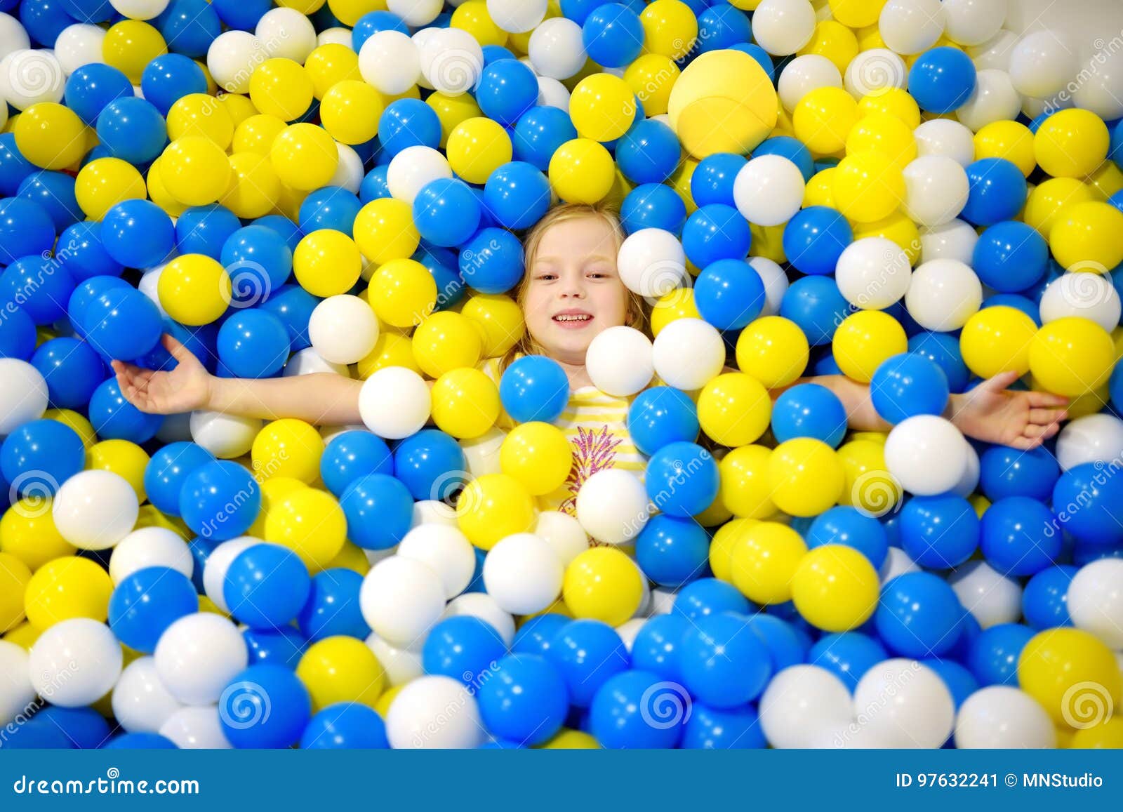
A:
[[[172,336],[164,334],[161,343],[176,361],[171,372],[146,369],[121,361],[111,362],[121,394],[149,414],[177,414],[206,409],[211,395],[211,374],[190,349]]]

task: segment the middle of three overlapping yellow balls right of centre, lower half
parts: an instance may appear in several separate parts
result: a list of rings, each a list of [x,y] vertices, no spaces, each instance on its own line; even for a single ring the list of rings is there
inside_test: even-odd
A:
[[[746,529],[733,547],[733,584],[756,603],[792,600],[792,577],[807,553],[800,533],[776,521],[758,521]]]

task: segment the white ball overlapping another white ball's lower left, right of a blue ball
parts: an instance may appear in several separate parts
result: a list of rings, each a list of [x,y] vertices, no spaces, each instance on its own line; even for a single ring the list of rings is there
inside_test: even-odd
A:
[[[393,556],[375,564],[363,578],[359,609],[383,640],[409,647],[429,633],[445,611],[445,585],[432,567]]]

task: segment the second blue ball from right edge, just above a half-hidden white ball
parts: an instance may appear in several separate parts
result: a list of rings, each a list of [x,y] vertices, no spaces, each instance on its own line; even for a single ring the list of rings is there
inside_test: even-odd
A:
[[[1061,553],[1057,517],[1029,496],[1007,496],[983,514],[983,557],[1003,575],[1034,575],[1057,560]]]

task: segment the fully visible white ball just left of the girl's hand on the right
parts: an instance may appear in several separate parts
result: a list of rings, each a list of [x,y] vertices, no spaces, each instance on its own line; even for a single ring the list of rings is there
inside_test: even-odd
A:
[[[967,467],[967,440],[950,421],[916,414],[889,431],[885,466],[910,493],[944,493],[956,486]]]

